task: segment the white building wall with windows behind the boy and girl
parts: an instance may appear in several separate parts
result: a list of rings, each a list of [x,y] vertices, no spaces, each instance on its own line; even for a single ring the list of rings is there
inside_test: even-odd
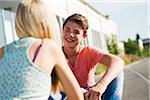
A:
[[[46,2],[57,18],[56,37],[58,43],[62,43],[61,31],[64,20],[73,13],[80,13],[86,16],[89,21],[88,37],[82,44],[97,46],[108,51],[105,34],[116,32],[116,30],[112,30],[116,27],[114,22],[97,13],[80,0],[46,0]],[[18,39],[14,28],[18,3],[18,0],[0,1],[0,47]]]

